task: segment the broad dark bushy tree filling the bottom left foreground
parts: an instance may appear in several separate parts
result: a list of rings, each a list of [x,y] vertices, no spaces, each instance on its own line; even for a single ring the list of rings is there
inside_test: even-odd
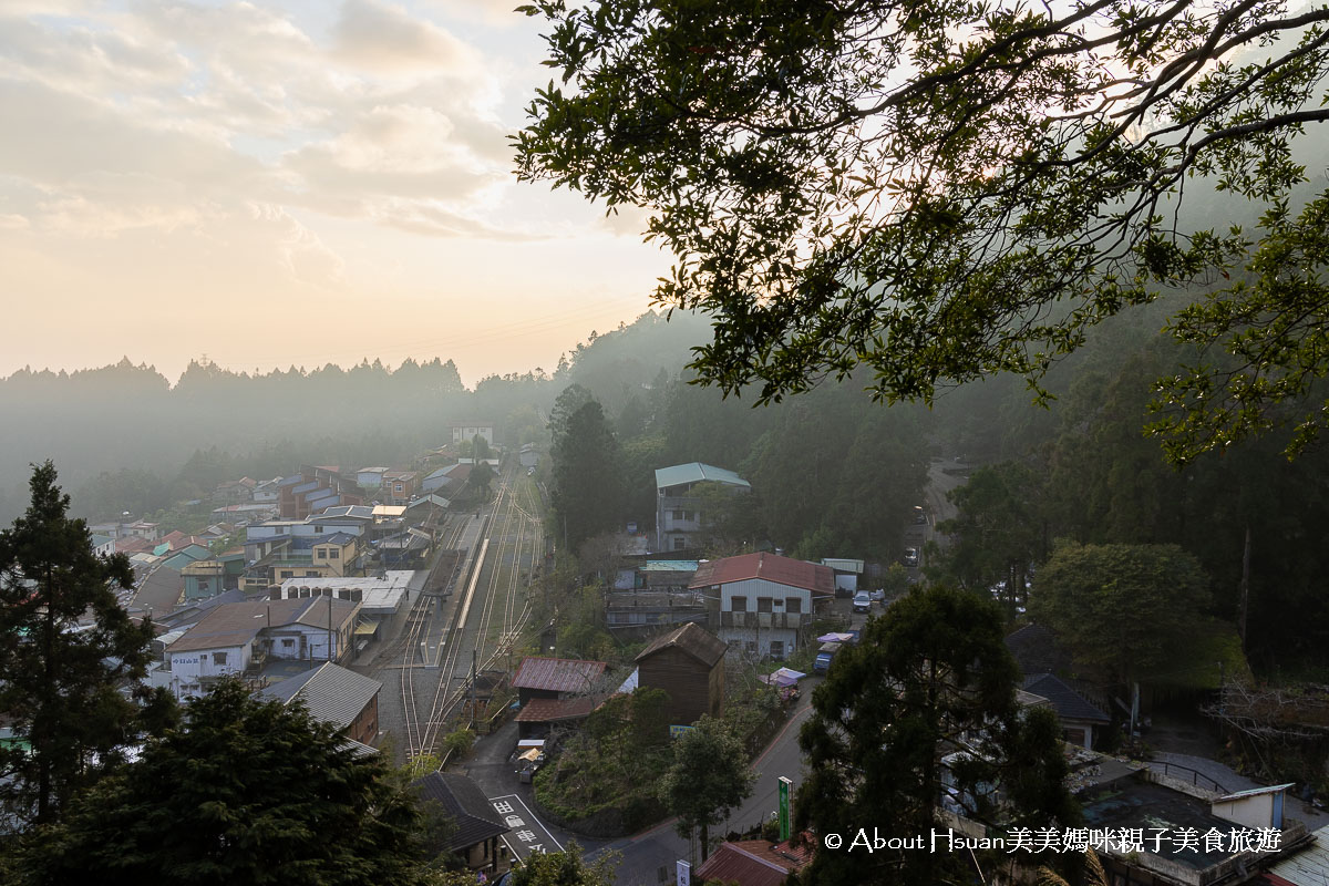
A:
[[[427,834],[377,756],[234,680],[20,854],[32,883],[420,882]]]

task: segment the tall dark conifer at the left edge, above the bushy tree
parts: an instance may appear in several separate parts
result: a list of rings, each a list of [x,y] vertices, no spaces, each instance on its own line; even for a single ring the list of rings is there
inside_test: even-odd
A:
[[[120,685],[146,672],[153,632],[116,599],[129,559],[93,553],[49,461],[29,486],[27,513],[0,531],[0,712],[20,739],[0,745],[0,804],[44,824],[134,739]]]

